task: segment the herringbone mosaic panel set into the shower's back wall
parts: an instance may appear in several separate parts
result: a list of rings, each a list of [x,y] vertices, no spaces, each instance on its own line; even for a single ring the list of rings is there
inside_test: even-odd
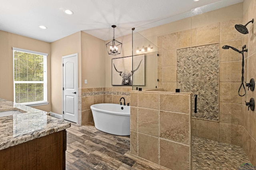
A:
[[[177,50],[177,82],[181,92],[197,98],[197,113],[192,117],[219,120],[219,44]],[[194,100],[192,100],[194,106]]]

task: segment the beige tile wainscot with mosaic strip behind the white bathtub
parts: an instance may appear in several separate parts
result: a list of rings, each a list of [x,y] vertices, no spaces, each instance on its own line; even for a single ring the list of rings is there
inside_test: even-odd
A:
[[[132,87],[124,88],[79,88],[78,89],[78,124],[93,121],[90,106],[99,103],[119,104],[120,98],[130,103],[130,90]]]

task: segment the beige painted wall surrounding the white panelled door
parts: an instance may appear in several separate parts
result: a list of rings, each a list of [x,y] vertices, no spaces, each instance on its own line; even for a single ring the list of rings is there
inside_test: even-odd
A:
[[[78,88],[81,87],[81,32],[74,33],[51,43],[52,109],[62,113],[62,57],[78,53]]]

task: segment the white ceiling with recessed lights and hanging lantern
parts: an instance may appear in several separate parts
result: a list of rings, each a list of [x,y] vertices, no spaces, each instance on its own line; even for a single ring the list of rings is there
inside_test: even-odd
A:
[[[0,30],[46,42],[84,31],[106,41],[113,37],[111,25],[120,37],[133,27],[213,2],[212,10],[243,0],[0,0]],[[65,14],[65,9],[74,14]]]

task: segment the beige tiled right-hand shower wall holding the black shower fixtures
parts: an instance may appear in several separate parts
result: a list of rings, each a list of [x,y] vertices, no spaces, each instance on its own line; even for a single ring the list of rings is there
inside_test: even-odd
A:
[[[247,6],[246,6],[246,3]],[[242,44],[246,44],[248,53],[245,55],[245,80],[249,82],[251,78],[256,80],[256,1],[247,0],[244,2],[244,17],[242,24],[245,25],[248,21],[254,18],[254,23],[249,23],[246,27],[249,33],[244,35]],[[250,98],[256,100],[256,90],[246,90],[246,96],[242,98],[242,148],[245,150],[248,158],[253,165],[256,165],[256,111],[248,111],[246,102]]]

